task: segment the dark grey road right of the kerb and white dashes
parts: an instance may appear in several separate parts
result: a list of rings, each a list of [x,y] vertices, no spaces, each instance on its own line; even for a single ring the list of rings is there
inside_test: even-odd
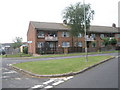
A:
[[[118,58],[76,75],[55,88],[118,88]]]

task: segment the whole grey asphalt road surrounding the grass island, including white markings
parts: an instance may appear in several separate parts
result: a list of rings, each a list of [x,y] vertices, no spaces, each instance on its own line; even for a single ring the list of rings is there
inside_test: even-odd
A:
[[[118,54],[99,54],[99,55],[113,55]],[[118,87],[117,85],[117,58],[110,60],[104,64],[101,64],[89,71],[74,77],[66,78],[35,78],[23,75],[19,72],[11,70],[8,64],[20,63],[26,61],[38,61],[38,60],[52,60],[61,58],[74,58],[82,56],[71,56],[71,57],[56,57],[56,58],[41,58],[41,59],[3,59],[2,60],[2,88],[95,88],[95,87]],[[109,68],[109,69],[108,69]],[[102,82],[103,81],[103,82]],[[62,83],[62,84],[60,84]],[[106,84],[109,83],[109,84]],[[60,84],[60,85],[59,85]],[[106,85],[105,85],[106,84]],[[56,86],[58,85],[58,86]]]

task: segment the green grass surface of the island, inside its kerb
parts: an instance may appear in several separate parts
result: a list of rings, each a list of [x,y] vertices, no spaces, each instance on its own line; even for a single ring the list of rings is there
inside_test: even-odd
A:
[[[90,56],[88,62],[85,61],[85,57],[34,61],[14,64],[13,66],[40,75],[63,74],[80,71],[110,57],[112,56]]]

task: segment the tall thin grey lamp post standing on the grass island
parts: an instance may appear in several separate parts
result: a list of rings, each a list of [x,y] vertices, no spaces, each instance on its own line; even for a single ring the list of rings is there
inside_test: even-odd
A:
[[[85,0],[83,0],[83,5],[84,5],[84,31],[85,31],[85,58],[86,62],[88,61],[88,52],[87,52],[87,33],[86,33],[86,15],[85,15]]]

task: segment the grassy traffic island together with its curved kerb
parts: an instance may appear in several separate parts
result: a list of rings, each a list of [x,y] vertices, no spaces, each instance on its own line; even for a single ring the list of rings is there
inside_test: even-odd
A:
[[[33,77],[67,77],[83,73],[99,64],[115,57],[112,56],[90,56],[88,62],[85,57],[69,58],[59,60],[46,60],[25,62],[9,65],[12,69]],[[38,70],[37,70],[38,69]]]

